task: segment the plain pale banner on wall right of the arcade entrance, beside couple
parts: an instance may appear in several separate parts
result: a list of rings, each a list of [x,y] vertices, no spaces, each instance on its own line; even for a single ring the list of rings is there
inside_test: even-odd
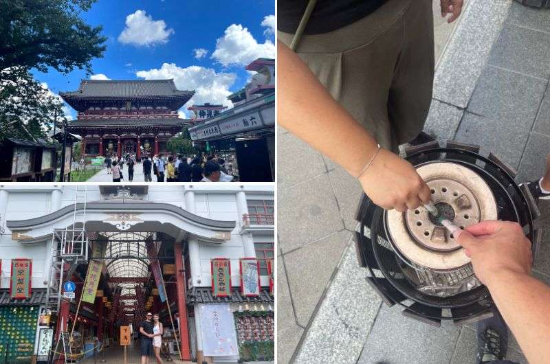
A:
[[[229,304],[199,304],[202,350],[205,356],[238,355],[235,323]],[[196,314],[195,314],[196,315]]]

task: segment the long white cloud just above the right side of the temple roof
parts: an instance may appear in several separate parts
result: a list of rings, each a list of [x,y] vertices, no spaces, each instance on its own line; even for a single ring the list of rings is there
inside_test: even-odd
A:
[[[164,63],[159,69],[137,71],[135,75],[146,80],[173,78],[178,89],[195,90],[195,95],[186,107],[204,102],[232,106],[227,97],[231,94],[229,89],[236,80],[235,73],[216,72],[212,68],[200,66],[182,68],[174,63]]]

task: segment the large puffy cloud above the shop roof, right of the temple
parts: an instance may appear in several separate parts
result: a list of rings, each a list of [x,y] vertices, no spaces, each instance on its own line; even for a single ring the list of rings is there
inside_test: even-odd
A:
[[[258,43],[243,25],[232,24],[225,30],[225,34],[217,39],[216,50],[210,58],[224,66],[245,66],[260,57],[275,58],[274,43],[270,40]]]

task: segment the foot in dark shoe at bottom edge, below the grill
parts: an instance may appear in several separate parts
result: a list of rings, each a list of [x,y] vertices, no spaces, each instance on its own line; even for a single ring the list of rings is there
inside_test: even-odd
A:
[[[504,360],[508,350],[508,329],[500,312],[495,310],[493,317],[479,321],[476,331],[476,363]]]

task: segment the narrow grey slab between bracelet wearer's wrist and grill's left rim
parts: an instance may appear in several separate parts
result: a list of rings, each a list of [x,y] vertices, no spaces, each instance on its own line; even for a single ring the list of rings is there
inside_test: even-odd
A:
[[[363,188],[355,177],[341,167],[329,172],[329,178],[340,207],[340,214],[344,219],[344,225],[346,229],[354,231],[357,226],[355,212],[363,194]]]

